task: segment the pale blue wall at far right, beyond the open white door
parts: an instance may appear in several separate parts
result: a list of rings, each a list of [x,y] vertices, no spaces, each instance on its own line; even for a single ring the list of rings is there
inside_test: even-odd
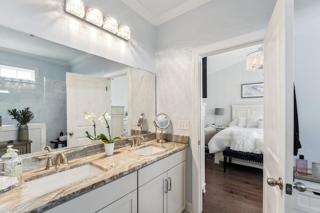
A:
[[[299,137],[304,155],[311,163],[320,162],[320,1],[294,1],[294,85],[299,121]]]

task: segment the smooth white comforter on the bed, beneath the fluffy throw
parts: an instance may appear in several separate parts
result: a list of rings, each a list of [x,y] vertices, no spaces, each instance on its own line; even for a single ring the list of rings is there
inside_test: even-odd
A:
[[[210,139],[210,141],[208,142],[209,153],[223,151],[225,148],[230,147],[231,131],[255,131],[257,133],[257,138],[263,139],[262,128],[246,128],[239,126],[231,126],[221,130]]]

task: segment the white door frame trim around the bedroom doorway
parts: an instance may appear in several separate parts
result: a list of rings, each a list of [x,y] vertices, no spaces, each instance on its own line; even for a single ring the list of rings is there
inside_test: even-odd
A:
[[[204,122],[201,128],[200,117],[204,115],[202,106],[202,74],[201,61],[203,57],[236,50],[243,47],[261,44],[263,41],[264,30],[245,34],[242,36],[227,39],[211,45],[192,50],[193,62],[193,84],[192,84],[192,141],[199,143],[191,143],[192,157],[198,161],[192,162],[192,212],[202,211],[202,180],[204,180]],[[202,115],[202,116],[200,116]],[[202,135],[202,138],[201,138]]]

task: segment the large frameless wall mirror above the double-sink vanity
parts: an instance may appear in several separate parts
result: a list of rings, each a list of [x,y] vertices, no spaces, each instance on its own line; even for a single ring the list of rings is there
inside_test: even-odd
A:
[[[31,153],[43,151],[44,145],[54,148],[54,144],[50,141],[56,140],[61,131],[63,135],[68,134],[66,121],[66,73],[68,72],[110,79],[108,89],[111,92],[111,102],[108,112],[112,117],[113,109],[113,112],[117,113],[115,116],[117,120],[119,121],[119,117],[121,119],[121,125],[115,124],[115,121],[112,125],[112,119],[110,121],[112,131],[116,132],[115,136],[120,136],[118,135],[120,133],[128,136],[141,134],[140,128],[136,125],[141,113],[145,115],[142,133],[155,132],[152,124],[156,114],[154,73],[3,26],[0,26],[0,65],[35,70],[33,80],[0,76],[0,116],[2,116],[0,136],[4,133],[5,126],[17,124],[7,114],[7,109],[30,107],[34,119],[29,126],[32,128],[32,124],[45,124],[45,142],[42,140],[42,144],[32,143]],[[87,98],[90,100],[91,97]],[[94,113],[97,120],[103,112]],[[6,135],[1,136],[1,139],[0,141],[6,141],[16,138],[10,139]],[[29,139],[34,141],[32,133]]]

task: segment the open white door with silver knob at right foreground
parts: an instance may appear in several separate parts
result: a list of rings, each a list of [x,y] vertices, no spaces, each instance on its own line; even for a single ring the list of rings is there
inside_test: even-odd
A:
[[[277,0],[264,36],[263,213],[292,212],[293,1]],[[267,179],[283,181],[283,189]]]

